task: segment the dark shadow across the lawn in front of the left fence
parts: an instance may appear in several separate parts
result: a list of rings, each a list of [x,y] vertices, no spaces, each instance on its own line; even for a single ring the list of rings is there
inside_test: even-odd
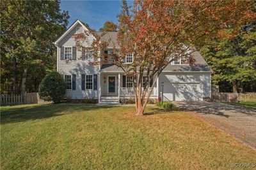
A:
[[[35,104],[1,107],[1,124],[26,122],[71,114],[74,111],[95,111],[115,106],[97,106],[95,104]]]

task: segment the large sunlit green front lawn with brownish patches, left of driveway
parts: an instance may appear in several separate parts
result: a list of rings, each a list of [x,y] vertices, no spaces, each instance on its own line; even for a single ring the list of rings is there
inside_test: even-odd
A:
[[[231,169],[256,152],[190,113],[86,104],[1,108],[1,169]],[[154,114],[152,114],[154,113]]]

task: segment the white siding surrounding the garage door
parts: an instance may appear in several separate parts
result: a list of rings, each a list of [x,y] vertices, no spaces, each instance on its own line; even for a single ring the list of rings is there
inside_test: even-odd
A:
[[[162,91],[162,82],[164,82],[164,89],[184,87],[185,92],[186,89],[200,88],[202,97],[211,97],[211,73],[161,73],[159,76],[159,96]],[[188,88],[185,88],[186,85]]]

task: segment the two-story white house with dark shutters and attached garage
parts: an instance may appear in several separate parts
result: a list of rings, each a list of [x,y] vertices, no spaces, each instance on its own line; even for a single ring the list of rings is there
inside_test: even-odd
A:
[[[93,56],[77,50],[74,34],[87,30],[76,20],[64,34],[54,42],[57,47],[57,71],[63,74],[67,83],[67,97],[70,99],[97,99],[99,103],[119,103],[133,97],[132,77],[125,76],[124,71],[113,64],[89,64]],[[100,32],[99,32],[100,33]],[[117,32],[107,32],[100,41],[116,41]],[[94,37],[88,36],[83,46],[92,44]],[[118,48],[118,43],[115,43]],[[111,52],[111,43],[104,53]],[[198,52],[192,53],[195,64],[190,66],[184,60],[177,59],[164,68],[152,99],[161,97],[164,86],[164,100],[203,101],[211,97],[211,68]],[[86,56],[86,57],[82,57]],[[70,62],[67,60],[70,59]],[[126,55],[124,62],[132,62],[133,56]]]

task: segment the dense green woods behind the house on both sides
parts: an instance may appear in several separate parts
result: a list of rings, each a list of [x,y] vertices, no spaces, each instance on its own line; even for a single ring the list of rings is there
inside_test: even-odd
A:
[[[38,92],[45,75],[56,70],[52,42],[67,29],[68,11],[61,11],[60,1],[0,4],[1,94]],[[116,31],[116,26],[108,21],[102,31]],[[237,36],[211,39],[198,50],[212,67],[212,83],[220,92],[256,92],[256,21],[241,27]]]

